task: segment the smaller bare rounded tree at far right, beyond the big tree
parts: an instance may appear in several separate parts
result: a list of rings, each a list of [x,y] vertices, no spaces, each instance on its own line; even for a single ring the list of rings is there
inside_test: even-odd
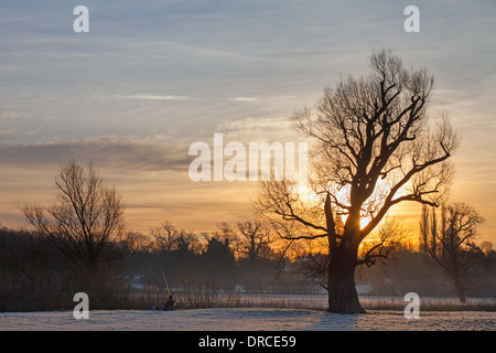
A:
[[[435,215],[435,211],[432,210]],[[422,220],[423,222],[423,220]],[[471,268],[483,260],[482,250],[474,244],[477,225],[484,222],[478,212],[465,203],[443,207],[442,231],[432,231],[427,247],[428,254],[453,279],[460,302],[466,302],[466,280]],[[430,218],[431,229],[436,229],[438,220]]]

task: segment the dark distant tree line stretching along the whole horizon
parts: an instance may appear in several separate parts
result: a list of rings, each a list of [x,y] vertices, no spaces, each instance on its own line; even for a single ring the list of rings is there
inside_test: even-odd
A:
[[[35,232],[0,228],[0,311],[71,309],[78,291],[93,293],[93,309],[142,308],[132,296],[164,293],[161,269],[175,292],[314,293],[325,284],[324,272],[309,272],[309,264],[324,261],[325,254],[311,254],[304,246],[293,257],[268,247],[250,258],[245,249],[251,242],[246,243],[240,231],[226,228],[226,224],[213,234],[175,229],[172,244],[157,237],[157,232],[150,233],[125,233],[120,244],[125,256],[101,267],[98,277],[88,282],[74,264]],[[493,298],[496,252],[485,242],[474,254],[478,260],[465,279],[465,296]],[[376,296],[403,296],[409,291],[428,297],[459,295],[453,278],[425,250],[407,244],[395,246],[375,266],[362,266],[357,285],[360,293]]]

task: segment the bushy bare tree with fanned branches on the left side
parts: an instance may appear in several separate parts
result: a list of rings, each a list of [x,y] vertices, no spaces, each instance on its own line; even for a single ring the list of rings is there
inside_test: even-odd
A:
[[[25,205],[22,211],[40,237],[79,270],[95,272],[120,258],[123,247],[121,195],[106,186],[95,168],[75,161],[63,165],[55,180],[58,191],[50,206]]]

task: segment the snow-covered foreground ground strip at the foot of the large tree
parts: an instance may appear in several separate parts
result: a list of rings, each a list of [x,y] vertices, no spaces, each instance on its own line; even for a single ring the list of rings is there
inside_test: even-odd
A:
[[[406,319],[400,311],[342,315],[296,309],[197,309],[176,311],[90,311],[76,320],[72,311],[0,313],[0,330],[76,331],[355,331],[355,330],[496,330],[496,312],[420,312]]]

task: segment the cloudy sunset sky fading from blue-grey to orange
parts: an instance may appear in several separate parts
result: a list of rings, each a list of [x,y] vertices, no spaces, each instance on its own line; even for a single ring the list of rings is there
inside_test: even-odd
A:
[[[73,10],[86,6],[89,32]],[[420,32],[403,13],[419,8]],[[435,76],[462,143],[451,200],[496,243],[496,2],[316,0],[0,1],[0,222],[50,203],[69,159],[91,161],[126,201],[127,225],[193,232],[252,218],[257,182],[193,182],[188,147],[296,141],[291,115],[390,49]],[[403,208],[413,224],[419,207]]]

